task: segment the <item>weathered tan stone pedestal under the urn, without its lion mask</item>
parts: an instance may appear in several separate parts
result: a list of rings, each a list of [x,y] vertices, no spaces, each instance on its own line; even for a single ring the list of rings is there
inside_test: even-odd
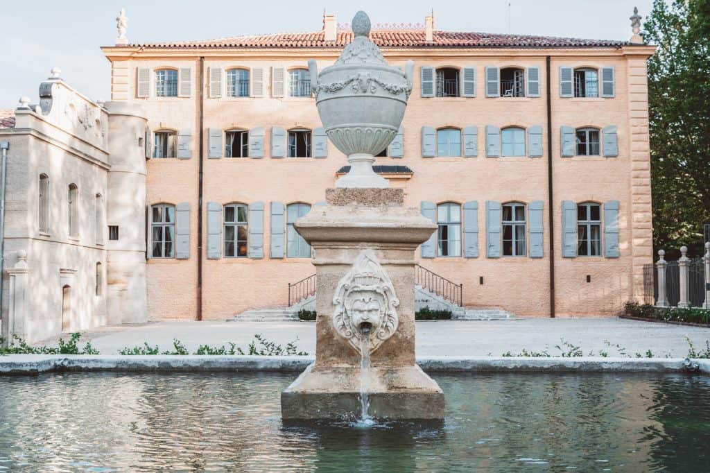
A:
[[[347,330],[334,322],[343,314],[336,303],[342,293],[337,291],[342,291],[344,277],[363,255],[386,273],[388,287],[393,289],[388,300],[395,301],[396,319],[391,332],[372,345],[371,369],[365,380],[368,414],[388,419],[443,419],[441,388],[415,364],[414,254],[436,225],[416,208],[403,206],[402,189],[329,189],[326,202],[295,224],[315,250],[316,361],[281,394],[283,419],[356,418],[360,414],[361,354]]]

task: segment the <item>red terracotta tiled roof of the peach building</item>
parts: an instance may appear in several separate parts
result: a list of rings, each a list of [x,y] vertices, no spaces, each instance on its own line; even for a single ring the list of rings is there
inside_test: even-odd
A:
[[[136,43],[145,48],[342,48],[351,43],[353,33],[339,30],[334,41],[325,41],[323,31],[310,33],[275,33],[258,36],[182,43]],[[554,38],[550,36],[505,35],[435,31],[432,43],[425,40],[423,29],[373,30],[370,38],[383,48],[591,48],[621,47],[628,41]]]

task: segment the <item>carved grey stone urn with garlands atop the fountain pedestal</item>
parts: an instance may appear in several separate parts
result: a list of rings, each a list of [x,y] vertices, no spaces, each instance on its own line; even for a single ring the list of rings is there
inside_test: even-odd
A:
[[[328,138],[350,163],[336,187],[389,187],[372,164],[402,124],[414,62],[408,61],[404,71],[387,65],[368,38],[370,18],[364,11],[355,15],[352,28],[355,39],[334,65],[319,75],[315,60],[308,62],[311,90]]]

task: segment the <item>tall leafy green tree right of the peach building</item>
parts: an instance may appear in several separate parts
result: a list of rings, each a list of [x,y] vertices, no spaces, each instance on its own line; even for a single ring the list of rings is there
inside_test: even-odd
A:
[[[710,223],[710,1],[655,0],[644,40],[655,249],[702,250]]]

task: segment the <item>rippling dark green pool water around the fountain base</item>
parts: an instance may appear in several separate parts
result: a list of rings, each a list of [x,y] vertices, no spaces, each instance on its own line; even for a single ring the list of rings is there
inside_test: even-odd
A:
[[[438,375],[443,424],[285,426],[293,374],[0,378],[0,472],[704,471],[710,380]]]

